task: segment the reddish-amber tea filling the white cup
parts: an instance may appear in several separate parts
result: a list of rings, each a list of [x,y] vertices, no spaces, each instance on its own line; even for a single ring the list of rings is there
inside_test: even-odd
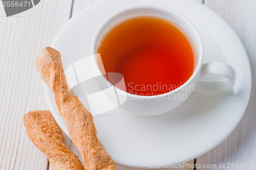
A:
[[[105,72],[122,74],[126,91],[137,95],[178,88],[191,77],[195,65],[186,36],[171,22],[156,17],[119,23],[102,38],[97,53]]]

